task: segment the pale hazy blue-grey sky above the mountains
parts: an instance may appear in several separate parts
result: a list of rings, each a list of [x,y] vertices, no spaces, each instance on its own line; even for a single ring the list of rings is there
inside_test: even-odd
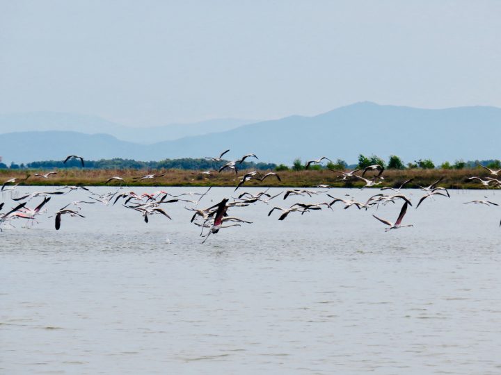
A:
[[[501,106],[501,1],[0,0],[0,113],[129,125]]]

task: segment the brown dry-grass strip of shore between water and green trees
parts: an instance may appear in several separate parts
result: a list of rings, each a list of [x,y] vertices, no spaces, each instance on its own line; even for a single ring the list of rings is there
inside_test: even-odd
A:
[[[44,174],[47,170],[19,170],[19,169],[0,169],[0,183],[8,180],[9,178],[17,177],[24,178],[26,174],[30,177],[20,183],[20,185],[86,185],[86,186],[103,186],[104,182],[111,176],[120,176],[125,179],[125,183],[120,181],[112,181],[109,183],[111,186],[236,186],[241,176],[246,171],[240,171],[239,176],[231,172],[222,172],[210,176],[203,176],[193,174],[194,171],[187,171],[182,169],[168,169],[168,170],[137,170],[137,169],[58,169],[58,174],[49,176],[49,178],[41,178],[34,176],[35,173]],[[166,175],[153,180],[144,180],[134,182],[132,177],[143,176],[144,174],[161,174]],[[357,172],[359,174],[360,172]],[[318,184],[331,185],[336,188],[361,188],[364,183],[360,180],[340,181],[339,174],[329,170],[308,170],[308,171],[283,171],[278,172],[282,182],[278,181],[275,177],[269,176],[264,182],[251,180],[245,183],[244,186],[280,186],[280,187],[312,187]],[[369,174],[369,173],[367,173]],[[477,182],[466,181],[470,176],[488,176],[488,172],[484,169],[406,169],[399,170],[385,170],[383,173],[384,180],[381,185],[383,186],[398,186],[408,178],[414,178],[412,183],[406,185],[406,188],[417,188],[419,185],[430,185],[438,178],[443,177],[440,186],[452,189],[478,189],[483,188]],[[366,175],[367,177],[367,175]],[[370,177],[369,177],[370,178]]]

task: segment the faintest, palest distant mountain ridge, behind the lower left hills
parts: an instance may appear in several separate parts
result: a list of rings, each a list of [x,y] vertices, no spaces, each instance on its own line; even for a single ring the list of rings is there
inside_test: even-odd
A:
[[[29,112],[0,114],[0,134],[13,131],[77,131],[84,134],[104,133],[119,140],[151,144],[177,140],[193,135],[228,131],[254,120],[210,119],[193,124],[130,127],[110,122],[97,116],[74,113]]]

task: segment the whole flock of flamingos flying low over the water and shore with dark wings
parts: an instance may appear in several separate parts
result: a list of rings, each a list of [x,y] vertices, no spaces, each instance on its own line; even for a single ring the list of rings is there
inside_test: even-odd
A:
[[[225,170],[230,170],[230,173],[235,173],[238,176],[239,173],[239,165],[246,160],[246,158],[256,158],[257,156],[254,153],[248,153],[237,160],[223,160],[223,156],[228,153],[230,149],[223,151],[219,156],[216,157],[207,157],[207,159],[214,161],[224,161],[225,164],[218,171],[206,171],[206,172],[197,172],[198,174],[212,174],[215,172],[221,173]],[[65,158],[65,162],[72,158],[77,158],[81,160],[81,165],[84,166],[84,158],[81,156],[70,155]],[[323,160],[330,160],[326,158],[326,156],[322,156],[321,158],[310,160],[306,163],[306,166],[309,167],[312,164],[319,164]],[[501,181],[497,178],[498,173],[501,171],[488,169],[490,176],[485,180],[472,176],[469,178],[470,180],[478,180],[482,183],[482,185],[486,186],[486,188],[500,187]],[[374,188],[376,185],[381,184],[381,180],[384,179],[383,172],[384,167],[381,165],[369,165],[362,169],[355,169],[353,171],[336,171],[331,169],[332,172],[338,174],[340,180],[362,180],[365,182],[365,186],[363,188]],[[356,174],[356,172],[362,171],[361,174]],[[48,172],[47,174],[35,174],[35,176],[40,178],[48,179],[50,176],[57,174],[57,172]],[[372,174],[372,176],[371,176]],[[154,179],[164,176],[164,174],[147,174],[143,176],[133,177],[134,181],[143,181],[146,179]],[[365,177],[367,175],[367,177]],[[335,203],[340,203],[344,206],[344,210],[355,206],[358,210],[369,210],[372,208],[377,209],[379,205],[386,205],[388,203],[397,203],[397,201],[403,201],[401,206],[401,210],[399,216],[397,217],[395,222],[390,222],[388,219],[383,219],[379,216],[372,215],[379,222],[382,222],[387,227],[385,231],[390,231],[392,229],[404,228],[404,227],[412,227],[413,224],[402,224],[404,221],[404,217],[408,212],[408,207],[413,206],[411,199],[407,197],[405,194],[401,192],[404,186],[413,181],[413,178],[408,179],[402,183],[400,183],[397,187],[384,187],[379,190],[378,193],[369,197],[365,202],[356,201],[353,197],[351,199],[342,199],[334,197],[331,193],[333,190],[330,189],[328,185],[320,184],[316,185],[317,188],[322,188],[325,190],[315,190],[310,188],[301,188],[301,189],[287,189],[282,192],[278,192],[278,194],[269,194],[269,189],[266,189],[262,192],[258,192],[257,194],[251,194],[250,192],[241,192],[238,197],[228,197],[224,198],[216,204],[212,204],[207,208],[200,208],[199,204],[202,199],[207,197],[211,188],[208,188],[205,192],[185,192],[182,194],[172,195],[167,191],[159,190],[154,193],[143,193],[138,194],[136,192],[125,192],[124,189],[120,186],[118,190],[114,192],[109,192],[106,194],[97,194],[96,192],[92,192],[91,189],[82,187],[82,186],[64,186],[63,188],[58,188],[56,191],[45,191],[45,192],[31,192],[27,194],[21,194],[19,197],[14,197],[15,192],[17,192],[17,188],[20,182],[25,181],[30,176],[26,176],[25,178],[8,178],[6,181],[3,181],[1,191],[2,192],[10,192],[10,199],[14,202],[13,207],[7,209],[5,213],[1,213],[4,207],[7,206],[6,202],[0,202],[0,231],[2,231],[2,226],[14,226],[14,223],[17,220],[26,220],[31,224],[38,224],[38,218],[47,213],[47,210],[43,210],[45,205],[54,198],[54,196],[61,196],[61,200],[74,190],[84,190],[88,192],[89,201],[63,201],[61,204],[61,208],[55,211],[52,216],[54,217],[54,228],[56,230],[61,229],[61,222],[63,215],[67,215],[68,217],[77,217],[84,219],[86,216],[83,215],[81,211],[82,205],[90,205],[101,203],[104,206],[115,206],[118,202],[120,202],[121,206],[127,208],[129,210],[133,210],[143,217],[143,221],[148,223],[150,218],[154,215],[161,215],[168,220],[172,220],[173,218],[168,213],[168,207],[172,204],[183,204],[186,210],[193,212],[193,216],[191,217],[190,222],[193,225],[196,225],[201,228],[200,236],[204,238],[202,241],[205,242],[209,236],[216,235],[223,228],[230,228],[233,226],[241,226],[242,224],[252,224],[248,220],[237,217],[234,215],[230,215],[228,212],[231,211],[233,213],[237,208],[244,208],[256,203],[264,203],[269,204],[271,200],[278,199],[278,197],[282,196],[282,200],[286,201],[288,198],[290,199],[300,199],[300,197],[323,197],[323,199],[319,199],[318,203],[302,203],[300,201],[296,201],[292,203],[290,206],[274,206],[271,207],[268,213],[268,217],[272,217],[272,214],[275,211],[280,211],[280,215],[278,216],[278,220],[283,221],[292,213],[301,213],[305,215],[305,213],[310,213],[312,211],[317,210],[333,210],[335,207]],[[237,186],[234,189],[236,192],[239,188],[242,188],[247,181],[257,180],[264,181],[266,178],[274,177],[277,178],[278,181],[281,182],[281,178],[275,172],[269,172],[267,174],[260,174],[257,171],[250,171],[244,174],[240,179],[237,180]],[[450,194],[446,188],[440,187],[438,184],[443,180],[443,178],[438,179],[438,181],[432,183],[428,186],[417,185],[420,190],[424,193],[422,197],[420,197],[415,208],[418,208],[422,205],[424,201],[432,200],[432,197],[443,197],[450,198]],[[124,178],[120,176],[111,176],[106,183],[110,183],[111,181],[120,181],[120,183],[125,182]],[[64,190],[64,191],[63,191]],[[385,191],[391,190],[393,194],[385,194]],[[35,199],[41,198],[42,201],[38,201],[36,206],[31,206],[31,202],[35,201]],[[189,199],[192,198],[192,199]],[[464,202],[480,204],[485,206],[498,206],[498,203],[493,201],[484,200],[474,200]],[[428,203],[429,204],[429,203]],[[31,206],[33,208],[28,207]],[[191,205],[191,206],[189,206]],[[71,206],[71,208],[70,208]],[[501,226],[501,222],[500,222]]]

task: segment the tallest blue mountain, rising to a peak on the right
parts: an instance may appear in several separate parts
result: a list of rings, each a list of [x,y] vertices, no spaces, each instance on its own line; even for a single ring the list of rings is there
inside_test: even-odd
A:
[[[178,157],[215,155],[232,149],[231,156],[255,152],[260,160],[292,164],[327,156],[356,162],[359,153],[405,162],[431,158],[436,162],[499,158],[501,109],[461,107],[440,110],[381,106],[363,102],[314,117],[292,116],[240,126],[231,131],[162,142]]]

